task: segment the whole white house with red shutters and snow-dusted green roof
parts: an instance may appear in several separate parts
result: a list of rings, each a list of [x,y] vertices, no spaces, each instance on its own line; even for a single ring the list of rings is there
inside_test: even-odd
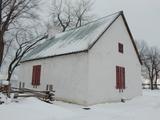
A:
[[[57,100],[93,105],[142,94],[141,60],[123,12],[59,33],[25,56],[19,80]]]

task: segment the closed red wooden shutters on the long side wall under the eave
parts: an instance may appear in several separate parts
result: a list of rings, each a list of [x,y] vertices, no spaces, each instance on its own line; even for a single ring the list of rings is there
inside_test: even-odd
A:
[[[32,85],[40,85],[40,76],[41,76],[41,65],[33,66],[32,70]]]

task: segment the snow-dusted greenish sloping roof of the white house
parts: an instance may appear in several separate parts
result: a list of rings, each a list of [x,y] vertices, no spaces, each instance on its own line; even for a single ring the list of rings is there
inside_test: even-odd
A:
[[[22,61],[88,50],[120,13],[117,12],[79,28],[59,33],[38,45]]]

